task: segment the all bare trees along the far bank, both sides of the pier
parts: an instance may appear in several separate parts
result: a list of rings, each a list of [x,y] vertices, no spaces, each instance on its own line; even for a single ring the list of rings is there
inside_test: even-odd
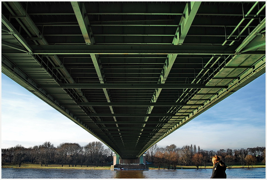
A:
[[[100,141],[90,142],[85,146],[78,143],[61,143],[55,147],[51,142],[45,142],[42,145],[25,148],[22,145],[16,145],[7,149],[1,149],[2,162],[19,164],[23,162],[39,163],[41,166],[51,163],[69,165],[87,166],[99,163],[111,163],[113,161],[111,149],[104,149]],[[197,169],[206,168],[206,164],[211,162],[214,155],[218,155],[222,161],[231,168],[234,163],[252,166],[256,162],[265,162],[265,147],[253,147],[247,149],[220,149],[215,151],[206,151],[196,148],[196,145],[184,145],[179,148],[172,144],[166,147],[153,145],[146,151],[146,161],[154,163],[158,168],[176,169],[177,165],[195,165]]]

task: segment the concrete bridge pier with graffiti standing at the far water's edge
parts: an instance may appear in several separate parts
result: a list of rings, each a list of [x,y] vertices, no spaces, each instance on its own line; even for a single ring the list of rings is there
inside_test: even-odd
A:
[[[111,171],[121,170],[148,170],[146,155],[143,154],[138,159],[122,159],[118,154],[113,155],[113,165]]]

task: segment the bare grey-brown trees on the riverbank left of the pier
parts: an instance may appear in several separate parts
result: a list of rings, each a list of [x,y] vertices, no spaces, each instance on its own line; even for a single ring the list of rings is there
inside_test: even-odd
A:
[[[78,143],[61,143],[55,147],[51,142],[45,142],[42,145],[25,148],[22,145],[16,145],[7,149],[1,149],[2,162],[19,164],[23,162],[40,163],[41,166],[48,166],[49,163],[57,163],[62,167],[69,165],[77,167],[77,164],[88,165],[90,163],[110,163],[113,161],[111,149],[104,149],[100,141],[90,142],[85,146]]]

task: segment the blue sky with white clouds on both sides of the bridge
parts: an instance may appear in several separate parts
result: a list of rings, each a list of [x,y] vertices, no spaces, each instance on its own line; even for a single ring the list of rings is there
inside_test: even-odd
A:
[[[265,147],[265,82],[264,74],[159,141],[158,147],[192,144],[208,151]],[[99,141],[3,73],[1,86],[1,148]]]

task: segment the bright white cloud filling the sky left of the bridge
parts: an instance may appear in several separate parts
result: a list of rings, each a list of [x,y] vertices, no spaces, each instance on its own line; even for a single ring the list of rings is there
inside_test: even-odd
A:
[[[13,85],[2,86],[2,148],[17,144],[29,147],[45,141],[50,141],[55,146],[63,142],[86,145],[99,141],[27,90],[19,89],[21,92],[17,93],[19,85],[11,80],[9,83]]]

